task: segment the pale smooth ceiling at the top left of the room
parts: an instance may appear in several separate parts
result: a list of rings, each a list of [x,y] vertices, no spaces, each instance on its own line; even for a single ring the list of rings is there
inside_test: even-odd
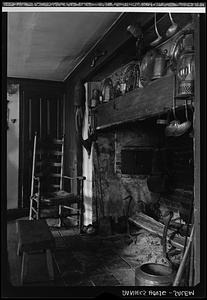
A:
[[[8,77],[64,81],[120,12],[8,13]]]

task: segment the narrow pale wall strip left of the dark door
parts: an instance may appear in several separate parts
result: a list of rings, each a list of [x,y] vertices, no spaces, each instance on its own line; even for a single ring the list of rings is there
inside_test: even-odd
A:
[[[13,94],[7,92],[7,209],[18,208],[19,85],[13,88]]]

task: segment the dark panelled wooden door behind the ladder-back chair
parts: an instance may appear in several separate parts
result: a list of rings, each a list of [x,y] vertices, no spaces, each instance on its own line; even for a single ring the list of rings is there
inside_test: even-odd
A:
[[[64,94],[58,90],[24,88],[20,118],[20,207],[29,207],[34,135],[37,141],[61,139],[64,134]]]

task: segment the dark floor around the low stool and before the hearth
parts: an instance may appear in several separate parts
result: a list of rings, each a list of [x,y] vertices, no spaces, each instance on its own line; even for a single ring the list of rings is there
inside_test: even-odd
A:
[[[25,286],[134,286],[136,257],[121,256],[125,235],[108,238],[79,235],[74,229],[53,229],[55,280],[49,281],[43,253],[30,255]],[[20,285],[16,221],[7,225],[10,283]]]

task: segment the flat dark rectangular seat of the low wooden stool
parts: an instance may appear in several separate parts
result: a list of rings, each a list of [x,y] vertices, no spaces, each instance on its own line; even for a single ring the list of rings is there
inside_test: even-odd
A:
[[[54,249],[55,240],[45,220],[19,220],[19,251]]]

